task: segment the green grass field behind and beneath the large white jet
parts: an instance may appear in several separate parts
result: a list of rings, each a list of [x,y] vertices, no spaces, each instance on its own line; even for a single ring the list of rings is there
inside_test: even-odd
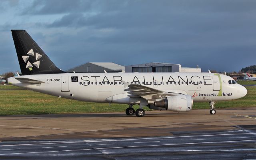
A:
[[[239,84],[256,84],[255,81],[238,81]],[[1,90],[18,88],[0,85],[0,115],[124,112],[126,104],[90,103],[58,98],[30,90]],[[256,87],[246,86],[248,94],[238,100],[217,102],[216,108],[256,107]],[[135,105],[134,108],[138,108]],[[194,103],[193,109],[208,109],[208,102]],[[145,107],[146,109],[146,107]],[[147,109],[149,110],[149,109]]]

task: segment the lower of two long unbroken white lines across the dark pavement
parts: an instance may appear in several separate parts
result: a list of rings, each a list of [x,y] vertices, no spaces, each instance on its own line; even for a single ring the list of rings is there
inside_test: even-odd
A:
[[[116,149],[116,148],[137,148],[137,147],[154,147],[154,146],[178,146],[178,145],[188,145],[188,144],[218,144],[218,143],[228,143],[228,142],[252,142],[256,140],[234,140],[234,141],[221,141],[221,142],[197,142],[197,143],[176,143],[176,144],[157,144],[157,145],[145,145],[145,146],[123,146],[123,147],[107,147],[107,148],[88,148],[79,150],[55,150],[55,151],[42,151],[42,152],[21,152],[21,153],[6,153],[0,155],[10,155],[10,154],[34,154],[34,153],[51,153],[51,152],[70,152],[70,151],[81,151],[81,150],[106,150],[106,149]]]

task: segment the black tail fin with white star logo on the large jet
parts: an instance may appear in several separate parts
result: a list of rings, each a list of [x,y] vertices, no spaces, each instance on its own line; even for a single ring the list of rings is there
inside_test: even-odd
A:
[[[11,30],[22,75],[65,73],[53,64],[26,30]]]

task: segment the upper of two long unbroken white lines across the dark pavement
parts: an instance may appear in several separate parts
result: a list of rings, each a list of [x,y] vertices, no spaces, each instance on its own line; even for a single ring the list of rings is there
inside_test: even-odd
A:
[[[133,141],[133,140],[150,140],[150,139],[168,139],[168,138],[186,138],[186,137],[205,137],[205,136],[228,136],[228,135],[246,135],[256,133],[237,133],[237,134],[209,134],[209,135],[198,135],[198,136],[173,136],[173,137],[155,137],[155,138],[136,138],[136,139],[113,139],[113,140],[83,140],[83,141],[74,141],[74,142],[52,142],[52,143],[32,143],[32,144],[8,144],[8,145],[0,145],[0,147],[5,146],[32,146],[32,145],[42,145],[42,144],[69,144],[69,143],[90,143],[90,142],[119,142],[119,141]]]

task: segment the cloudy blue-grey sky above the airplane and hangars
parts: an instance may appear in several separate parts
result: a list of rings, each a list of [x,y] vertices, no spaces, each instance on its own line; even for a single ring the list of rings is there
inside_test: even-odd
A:
[[[148,62],[239,71],[256,64],[255,0],[1,0],[0,74],[19,71],[11,29],[54,64]]]

